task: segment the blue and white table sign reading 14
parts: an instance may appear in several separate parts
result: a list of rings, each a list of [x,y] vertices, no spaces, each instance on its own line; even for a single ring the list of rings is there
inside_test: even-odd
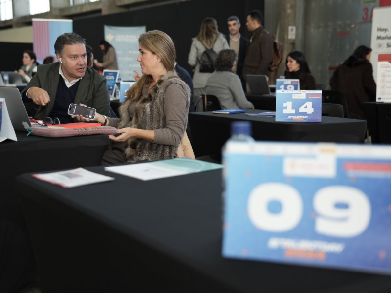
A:
[[[321,122],[321,90],[276,90],[276,121]]]

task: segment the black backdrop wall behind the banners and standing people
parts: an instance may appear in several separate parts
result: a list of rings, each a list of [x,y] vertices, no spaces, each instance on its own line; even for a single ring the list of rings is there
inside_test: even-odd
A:
[[[258,9],[263,12],[263,0],[196,0],[147,7],[140,10],[96,16],[77,16],[73,18],[73,31],[80,34],[94,49],[94,57],[102,60],[99,41],[104,39],[104,25],[113,26],[146,26],[146,30],[161,30],[167,33],[175,43],[177,62],[189,72],[187,63],[192,38],[200,29],[205,17],[214,17],[218,29],[228,34],[227,18],[237,15],[243,22],[241,32],[248,37],[245,28],[248,11]],[[1,31],[0,31],[1,33]],[[15,56],[20,52],[20,58],[6,58],[2,61],[1,70],[15,70],[21,66],[22,52],[33,49],[31,43],[0,43],[1,56]]]

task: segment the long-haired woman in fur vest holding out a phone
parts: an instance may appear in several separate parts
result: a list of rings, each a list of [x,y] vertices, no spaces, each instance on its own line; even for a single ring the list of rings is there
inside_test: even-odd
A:
[[[174,71],[172,39],[154,30],[141,34],[138,42],[142,76],[127,91],[120,118],[94,117],[118,128],[117,136],[109,135],[103,165],[173,158],[186,130],[190,89]]]

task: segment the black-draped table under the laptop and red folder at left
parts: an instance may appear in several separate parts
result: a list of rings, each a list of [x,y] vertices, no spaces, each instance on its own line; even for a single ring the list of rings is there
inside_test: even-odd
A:
[[[107,135],[47,138],[16,132],[18,141],[0,143],[0,292],[19,292],[34,276],[25,218],[15,193],[15,177],[26,172],[99,165]]]

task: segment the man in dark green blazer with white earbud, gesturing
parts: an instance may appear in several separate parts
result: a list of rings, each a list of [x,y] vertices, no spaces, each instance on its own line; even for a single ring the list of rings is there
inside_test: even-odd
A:
[[[87,67],[86,41],[76,33],[64,33],[54,43],[59,62],[40,65],[22,91],[29,115],[34,119],[72,123],[69,104],[84,104],[109,115],[106,79]],[[49,119],[49,120],[50,120]]]

